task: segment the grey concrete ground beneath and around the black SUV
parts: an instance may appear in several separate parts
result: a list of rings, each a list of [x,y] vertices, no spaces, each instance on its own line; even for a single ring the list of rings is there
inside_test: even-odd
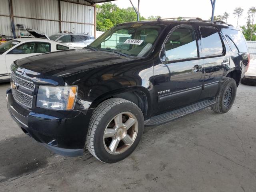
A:
[[[207,108],[145,128],[132,155],[104,164],[88,152],[56,155],[22,133],[6,109],[8,86],[0,84],[1,192],[256,192],[256,87],[240,84],[226,114]]]

